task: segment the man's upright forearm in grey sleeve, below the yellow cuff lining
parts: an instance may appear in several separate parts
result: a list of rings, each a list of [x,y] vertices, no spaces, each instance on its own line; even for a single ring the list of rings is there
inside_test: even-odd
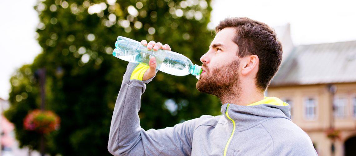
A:
[[[122,82],[111,119],[108,149],[113,155],[121,155],[140,141],[141,95],[145,89],[143,82],[134,80],[131,85]]]

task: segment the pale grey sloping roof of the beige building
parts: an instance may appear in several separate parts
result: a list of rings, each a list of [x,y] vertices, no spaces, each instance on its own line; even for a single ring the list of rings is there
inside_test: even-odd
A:
[[[270,86],[346,82],[356,82],[356,41],[295,47]]]

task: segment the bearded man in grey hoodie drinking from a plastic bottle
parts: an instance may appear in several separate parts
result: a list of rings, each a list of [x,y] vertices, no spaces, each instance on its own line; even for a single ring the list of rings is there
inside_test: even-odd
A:
[[[290,120],[289,105],[263,92],[282,60],[282,45],[265,23],[250,18],[227,18],[200,61],[197,82],[201,92],[223,103],[223,115],[203,115],[174,127],[143,130],[137,112],[145,83],[156,75],[130,63],[111,120],[108,150],[113,155],[317,155],[309,136]],[[141,42],[148,49],[169,45]],[[138,76],[137,76],[138,75]]]

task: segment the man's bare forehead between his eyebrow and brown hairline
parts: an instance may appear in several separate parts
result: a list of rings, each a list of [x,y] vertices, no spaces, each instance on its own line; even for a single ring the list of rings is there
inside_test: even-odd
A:
[[[235,28],[224,28],[216,34],[215,38],[213,39],[213,42],[211,42],[211,45],[213,44],[222,44],[225,46],[236,45],[236,43],[233,41],[235,34],[236,34]]]

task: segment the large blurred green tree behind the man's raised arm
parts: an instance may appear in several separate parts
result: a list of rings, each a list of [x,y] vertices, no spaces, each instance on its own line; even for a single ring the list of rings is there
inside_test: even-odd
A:
[[[167,43],[200,64],[213,39],[207,30],[210,0],[39,1],[38,42],[43,52],[11,78],[11,108],[20,146],[38,149],[38,135],[23,130],[27,111],[39,107],[35,71],[46,68],[46,109],[61,117],[61,128],[46,136],[48,153],[109,155],[112,111],[126,61],[111,55],[117,36]],[[142,96],[144,129],[173,126],[203,114],[219,115],[216,97],[199,93],[194,76],[158,72]]]

